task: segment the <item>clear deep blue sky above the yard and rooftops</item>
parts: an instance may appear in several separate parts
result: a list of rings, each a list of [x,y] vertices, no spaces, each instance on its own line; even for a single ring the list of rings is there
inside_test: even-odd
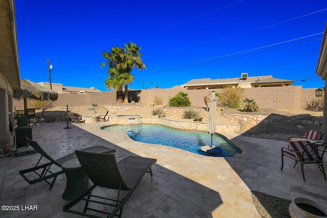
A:
[[[147,69],[133,89],[171,88],[198,78],[272,75],[303,88],[316,75],[325,0],[15,0],[21,79],[106,91],[102,51],[142,46]],[[305,80],[305,81],[302,81]]]

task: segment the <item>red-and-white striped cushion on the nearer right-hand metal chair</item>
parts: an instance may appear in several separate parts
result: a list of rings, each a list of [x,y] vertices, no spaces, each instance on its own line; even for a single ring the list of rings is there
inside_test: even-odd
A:
[[[284,150],[284,155],[296,159],[298,161],[315,161],[319,159],[318,151],[315,149],[314,145],[311,145],[310,141],[287,141],[289,149],[294,150],[295,152],[291,152],[288,150]],[[306,144],[308,146],[306,147]],[[306,147],[306,151],[303,153],[303,150]],[[301,159],[301,155],[303,153],[303,157]]]

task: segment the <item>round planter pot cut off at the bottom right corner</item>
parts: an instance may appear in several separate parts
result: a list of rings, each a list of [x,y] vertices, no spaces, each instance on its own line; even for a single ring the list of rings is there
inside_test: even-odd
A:
[[[306,198],[295,198],[289,206],[292,218],[327,217],[327,209],[315,201]]]

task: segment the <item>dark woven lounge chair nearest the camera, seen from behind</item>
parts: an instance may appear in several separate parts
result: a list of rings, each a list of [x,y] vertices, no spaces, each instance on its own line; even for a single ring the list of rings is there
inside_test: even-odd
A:
[[[132,195],[145,173],[150,173],[152,177],[151,166],[156,162],[156,159],[152,158],[128,156],[117,163],[114,154],[96,154],[83,151],[75,152],[84,172],[94,185],[88,190],[85,190],[84,195],[81,195],[65,205],[63,211],[89,217],[99,216],[96,216],[94,213],[87,213],[88,210],[107,214],[107,217],[121,217],[124,204]],[[115,199],[110,199],[104,198],[103,195],[102,197],[92,195],[92,190],[97,186],[118,190],[117,197]],[[121,191],[123,190],[127,193],[123,192],[124,195],[121,197]],[[78,211],[78,209],[82,207],[77,205],[80,201],[85,201],[83,212]],[[89,203],[92,204],[92,207],[89,207]],[[99,208],[97,207],[99,205],[95,205],[95,203],[106,206],[108,210],[113,208],[110,212],[97,210],[94,207]],[[76,210],[71,209],[74,205],[76,205]],[[119,214],[117,214],[118,212]]]

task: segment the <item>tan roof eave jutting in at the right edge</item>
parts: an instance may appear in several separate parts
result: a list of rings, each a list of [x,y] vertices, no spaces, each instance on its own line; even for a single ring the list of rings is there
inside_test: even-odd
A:
[[[321,41],[321,48],[316,68],[316,74],[318,74],[323,80],[327,78],[327,21]]]

